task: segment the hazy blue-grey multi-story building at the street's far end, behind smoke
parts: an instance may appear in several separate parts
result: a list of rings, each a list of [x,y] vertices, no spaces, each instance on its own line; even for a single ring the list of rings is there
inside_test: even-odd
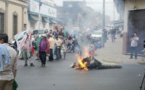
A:
[[[85,2],[82,0],[63,1],[63,6],[58,6],[58,18],[63,20],[64,24],[78,25],[80,18],[84,13]]]

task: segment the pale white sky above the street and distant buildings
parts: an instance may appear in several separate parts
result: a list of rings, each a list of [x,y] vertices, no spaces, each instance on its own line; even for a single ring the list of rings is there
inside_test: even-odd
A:
[[[54,2],[57,5],[62,6],[62,2],[63,1],[72,1],[72,0],[54,0]],[[91,7],[92,9],[94,9],[97,12],[101,12],[103,11],[103,0],[85,0],[87,6]],[[111,17],[111,20],[118,20],[119,19],[119,15],[116,11],[116,7],[114,5],[113,0],[105,0],[105,12],[106,15]],[[115,14],[114,14],[115,13]],[[114,18],[115,16],[115,18]]]

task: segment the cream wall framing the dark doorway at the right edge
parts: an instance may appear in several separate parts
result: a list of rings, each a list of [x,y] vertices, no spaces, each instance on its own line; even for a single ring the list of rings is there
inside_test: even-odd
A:
[[[125,0],[125,10],[124,10],[124,37],[123,37],[123,53],[128,53],[129,50],[129,12],[130,11],[137,11],[145,9],[145,0]],[[143,17],[137,17],[137,18],[143,18]],[[136,28],[136,27],[135,27]],[[144,32],[144,31],[138,31],[138,32]],[[142,36],[141,36],[142,37]],[[143,38],[140,38],[140,40]],[[139,45],[142,45],[142,41],[139,42]]]

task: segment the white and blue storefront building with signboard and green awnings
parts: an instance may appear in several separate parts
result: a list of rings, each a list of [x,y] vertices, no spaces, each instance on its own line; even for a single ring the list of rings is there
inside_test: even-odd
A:
[[[54,20],[57,18],[56,11],[53,4],[49,4],[48,0],[43,0],[43,2],[40,2],[40,0],[29,0],[28,29],[53,30],[53,26],[56,23]]]

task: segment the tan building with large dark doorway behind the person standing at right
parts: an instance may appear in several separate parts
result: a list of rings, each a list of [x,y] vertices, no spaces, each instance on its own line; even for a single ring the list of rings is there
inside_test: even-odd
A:
[[[137,32],[140,38],[138,43],[140,53],[145,40],[145,0],[114,0],[114,2],[120,15],[122,11],[124,13],[123,53],[130,52],[130,38],[134,32]]]

